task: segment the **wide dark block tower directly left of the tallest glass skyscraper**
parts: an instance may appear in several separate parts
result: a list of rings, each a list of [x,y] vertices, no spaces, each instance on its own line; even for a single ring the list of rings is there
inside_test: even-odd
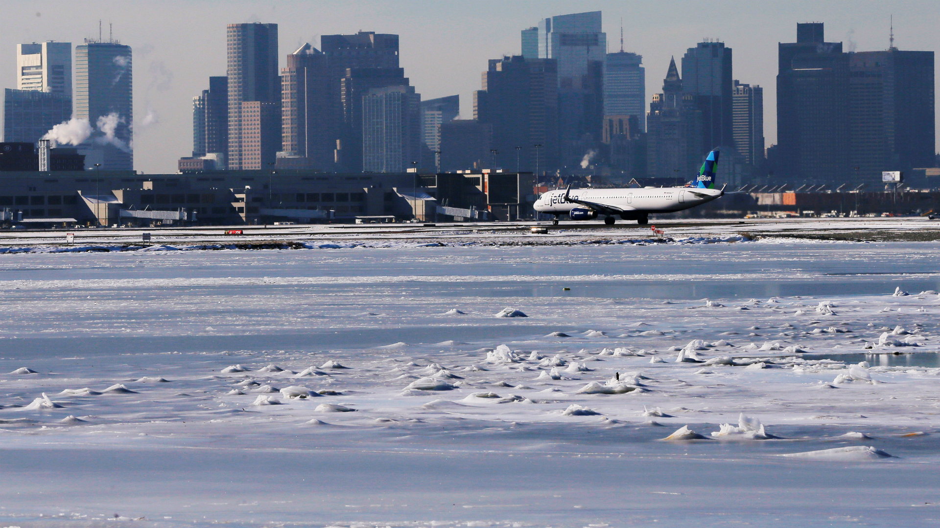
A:
[[[474,119],[493,128],[488,164],[515,170],[518,163],[540,173],[557,168],[557,75],[556,59],[490,60],[483,89],[474,93]]]

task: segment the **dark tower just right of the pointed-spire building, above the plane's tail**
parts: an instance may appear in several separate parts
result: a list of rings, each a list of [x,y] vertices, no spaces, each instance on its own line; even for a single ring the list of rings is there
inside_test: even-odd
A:
[[[731,114],[731,48],[724,42],[699,42],[682,57],[682,89],[694,96],[702,113],[703,153],[734,147]]]

